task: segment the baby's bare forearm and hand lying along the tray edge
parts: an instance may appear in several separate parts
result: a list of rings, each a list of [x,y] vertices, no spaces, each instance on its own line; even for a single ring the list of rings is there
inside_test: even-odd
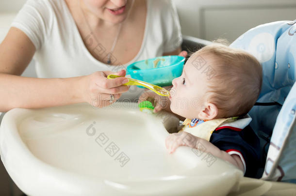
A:
[[[202,145],[205,148],[205,152],[210,152],[215,157],[218,157],[220,159],[223,159],[231,163],[232,165],[238,167],[242,171],[245,170],[243,162],[239,157],[239,155],[237,154],[230,155],[226,151],[221,151],[211,142],[205,139],[199,138],[197,136],[193,136],[187,132],[182,131],[179,133],[170,134],[165,139],[165,146],[169,151],[169,153],[174,152],[179,146],[188,146],[188,147],[197,149],[198,143],[199,145]]]

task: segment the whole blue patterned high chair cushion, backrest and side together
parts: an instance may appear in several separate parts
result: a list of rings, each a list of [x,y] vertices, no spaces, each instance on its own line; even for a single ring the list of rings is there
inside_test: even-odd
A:
[[[263,179],[295,181],[296,148],[292,147],[296,142],[296,21],[260,25],[241,35],[230,47],[246,50],[262,65],[263,85],[257,102],[279,103],[253,106],[249,112],[255,132],[261,138],[271,137]]]

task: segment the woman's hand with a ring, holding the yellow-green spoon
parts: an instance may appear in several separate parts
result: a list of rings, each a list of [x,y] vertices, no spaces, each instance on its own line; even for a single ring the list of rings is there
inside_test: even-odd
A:
[[[128,86],[123,84],[129,81],[126,77],[117,77],[115,79],[108,79],[107,75],[115,74],[125,76],[125,70],[118,73],[110,71],[95,72],[91,75],[82,77],[82,99],[95,108],[102,108],[113,104],[121,93],[129,90]],[[114,94],[114,100],[110,102],[111,94]]]

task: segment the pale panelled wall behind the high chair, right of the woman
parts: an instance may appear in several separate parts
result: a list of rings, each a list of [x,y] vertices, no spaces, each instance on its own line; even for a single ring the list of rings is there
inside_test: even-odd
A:
[[[173,0],[182,33],[206,40],[234,41],[268,22],[296,19],[296,0]]]

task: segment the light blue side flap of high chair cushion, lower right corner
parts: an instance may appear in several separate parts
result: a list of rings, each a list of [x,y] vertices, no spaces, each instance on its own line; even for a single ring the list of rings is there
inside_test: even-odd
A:
[[[296,183],[296,83],[278,115],[263,178]]]

